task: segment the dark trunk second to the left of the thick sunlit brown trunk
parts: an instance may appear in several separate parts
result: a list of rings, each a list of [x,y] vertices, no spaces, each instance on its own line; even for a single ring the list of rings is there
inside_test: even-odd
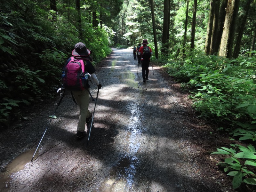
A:
[[[216,55],[217,52],[214,52],[216,46],[216,37],[218,33],[218,20],[219,20],[219,11],[220,11],[220,1],[216,0],[214,5],[214,19],[213,19],[213,27],[212,27],[212,39],[211,39],[211,47],[210,47],[210,55]]]

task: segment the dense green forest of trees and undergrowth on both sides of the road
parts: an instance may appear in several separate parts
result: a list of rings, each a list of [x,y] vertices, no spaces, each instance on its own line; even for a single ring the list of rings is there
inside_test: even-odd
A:
[[[0,10],[1,130],[54,97],[77,42],[97,66],[111,47],[148,39],[198,117],[228,135],[212,154],[223,155],[233,188],[256,185],[255,0],[11,0]]]

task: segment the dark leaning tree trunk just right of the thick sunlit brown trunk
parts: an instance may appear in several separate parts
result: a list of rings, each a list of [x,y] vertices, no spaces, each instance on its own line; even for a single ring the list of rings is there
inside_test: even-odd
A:
[[[244,33],[244,27],[245,27],[245,22],[249,13],[249,9],[250,9],[250,4],[251,4],[252,0],[247,0],[246,5],[244,6],[244,12],[245,14],[242,15],[240,21],[241,21],[241,25],[239,25],[239,32],[237,35],[237,39],[236,39],[236,45],[234,48],[234,52],[233,52],[233,56],[232,57],[238,57],[239,52],[240,52],[240,46],[241,46],[241,41],[242,41],[242,37],[243,37],[243,33]]]

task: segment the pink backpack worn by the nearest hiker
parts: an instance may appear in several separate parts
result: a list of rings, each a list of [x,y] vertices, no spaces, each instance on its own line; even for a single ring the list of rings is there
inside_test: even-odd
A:
[[[84,61],[74,57],[70,57],[70,59],[62,72],[62,84],[71,91],[84,90],[88,84],[88,80],[84,78]]]

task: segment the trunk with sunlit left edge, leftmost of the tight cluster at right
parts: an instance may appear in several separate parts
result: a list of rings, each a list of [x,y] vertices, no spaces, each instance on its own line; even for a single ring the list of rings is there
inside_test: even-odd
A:
[[[210,2],[210,10],[209,10],[209,20],[208,20],[208,26],[207,26],[207,33],[205,38],[205,46],[204,46],[204,52],[206,54],[210,53],[210,46],[211,46],[211,40],[212,40],[212,27],[213,27],[213,18],[214,18],[214,5],[215,0],[211,0]]]

